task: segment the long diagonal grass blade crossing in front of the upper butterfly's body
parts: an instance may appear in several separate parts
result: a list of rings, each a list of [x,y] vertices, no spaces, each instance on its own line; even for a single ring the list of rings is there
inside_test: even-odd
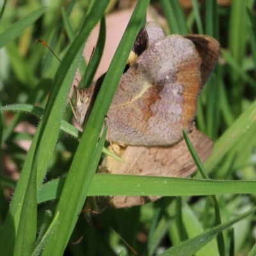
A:
[[[98,3],[95,3],[95,8],[96,4]],[[104,118],[111,104],[111,99],[113,99],[118,81],[122,76],[122,72],[124,70],[123,67],[127,61],[128,54],[131,51],[138,29],[140,28],[141,17],[145,16],[147,5],[148,1],[138,1],[120,45],[116,50],[113,61],[109,66],[109,70],[100,88],[99,95],[84,129],[83,136],[77,148],[65,186],[61,193],[57,207],[60,211],[60,225],[56,228],[52,240],[45,246],[43,255],[63,252],[74,225],[76,224],[77,212],[81,211],[81,208],[83,207],[86,194],[96,169],[96,166],[95,169],[91,168],[95,145],[99,138],[102,125],[104,124]],[[97,6],[97,10],[98,9],[99,6]],[[77,173],[79,173],[78,180]],[[76,189],[74,189],[74,180],[76,180]],[[67,204],[69,205],[68,210],[66,207]],[[63,239],[58,241],[60,233]]]

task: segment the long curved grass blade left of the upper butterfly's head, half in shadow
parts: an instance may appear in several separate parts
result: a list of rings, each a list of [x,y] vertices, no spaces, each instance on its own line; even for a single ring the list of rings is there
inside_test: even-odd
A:
[[[107,4],[107,3],[104,3]],[[97,24],[97,21],[104,13],[104,4],[98,6],[97,10],[91,12],[90,15],[86,16],[84,25],[76,40],[74,40],[71,47],[68,49],[65,58],[61,62],[61,65],[56,73],[56,79],[54,88],[49,95],[49,100],[45,108],[44,118],[40,126],[36,131],[31,148],[26,162],[22,169],[22,175],[13,196],[12,205],[6,222],[4,223],[3,230],[8,236],[2,236],[0,239],[0,248],[4,247],[6,255],[12,255],[13,244],[17,227],[19,225],[20,209],[22,207],[22,201],[24,198],[24,191],[29,179],[29,170],[31,170],[32,159],[35,154],[36,143],[40,143],[40,156],[38,157],[38,168],[37,168],[37,186],[39,188],[42,180],[44,179],[45,173],[47,172],[49,161],[52,159],[52,154],[58,140],[58,133],[60,131],[60,125],[63,114],[65,112],[65,104],[67,102],[67,95],[70,91],[70,84],[73,81],[74,74],[76,73],[76,67],[81,58],[81,53],[84,45],[84,38],[86,38],[93,26]],[[99,8],[100,7],[100,8]],[[72,61],[76,59],[73,63]],[[61,85],[63,86],[61,87]],[[38,141],[39,138],[39,141]]]

